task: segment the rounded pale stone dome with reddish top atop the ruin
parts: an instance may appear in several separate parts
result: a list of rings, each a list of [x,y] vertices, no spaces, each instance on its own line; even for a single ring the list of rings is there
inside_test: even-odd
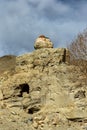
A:
[[[53,48],[53,43],[50,41],[48,37],[45,37],[44,35],[40,35],[34,44],[35,49],[40,48]]]

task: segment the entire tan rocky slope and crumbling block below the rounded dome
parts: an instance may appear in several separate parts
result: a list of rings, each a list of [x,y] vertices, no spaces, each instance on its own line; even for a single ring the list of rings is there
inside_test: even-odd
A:
[[[0,130],[86,130],[85,77],[68,62],[64,48],[16,57],[0,76]]]

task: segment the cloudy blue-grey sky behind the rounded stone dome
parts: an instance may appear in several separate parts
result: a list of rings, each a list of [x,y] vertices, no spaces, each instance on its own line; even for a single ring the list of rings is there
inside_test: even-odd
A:
[[[39,35],[67,47],[87,28],[87,0],[0,0],[0,56],[34,50]]]

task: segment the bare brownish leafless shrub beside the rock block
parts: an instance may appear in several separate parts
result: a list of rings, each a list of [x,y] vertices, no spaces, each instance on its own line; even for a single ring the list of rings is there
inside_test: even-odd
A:
[[[70,63],[77,65],[87,76],[87,30],[79,34],[77,38],[68,45],[70,51]]]

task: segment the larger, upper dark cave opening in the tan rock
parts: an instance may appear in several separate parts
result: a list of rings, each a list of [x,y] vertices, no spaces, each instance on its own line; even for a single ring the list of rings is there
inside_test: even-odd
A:
[[[23,93],[24,92],[26,92],[27,94],[29,94],[29,85],[27,83],[20,84],[19,88],[21,89],[19,97],[23,97]]]

